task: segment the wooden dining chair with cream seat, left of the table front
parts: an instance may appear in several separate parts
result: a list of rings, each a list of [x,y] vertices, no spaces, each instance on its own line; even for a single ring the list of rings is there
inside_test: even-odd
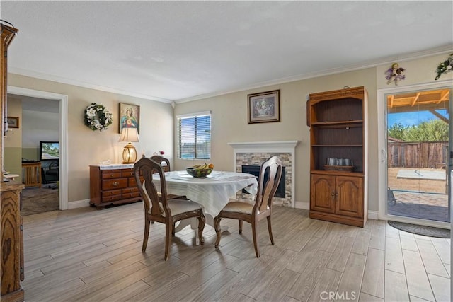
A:
[[[157,171],[160,178],[160,189],[162,192],[159,200],[156,185],[153,182],[153,173]],[[143,178],[143,185],[140,180]],[[168,251],[171,245],[171,235],[174,224],[177,221],[197,217],[198,219],[198,238],[200,244],[204,243],[202,233],[205,228],[205,215],[200,204],[191,200],[168,199],[164,169],[156,161],[150,158],[141,158],[134,164],[134,178],[144,204],[144,237],[142,252],[147,249],[149,237],[149,225],[151,221],[165,224],[165,260],[168,260]]]

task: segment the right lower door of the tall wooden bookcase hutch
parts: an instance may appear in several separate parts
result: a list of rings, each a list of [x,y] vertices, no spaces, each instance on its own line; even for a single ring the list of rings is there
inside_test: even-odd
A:
[[[336,177],[336,214],[363,217],[363,178]]]

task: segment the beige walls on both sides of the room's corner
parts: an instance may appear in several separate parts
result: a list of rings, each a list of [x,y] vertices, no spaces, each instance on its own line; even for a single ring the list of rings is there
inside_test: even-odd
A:
[[[406,80],[400,86],[429,83],[435,79],[437,64],[448,54],[398,62],[406,68]],[[210,110],[212,112],[212,163],[218,170],[232,170],[233,149],[227,144],[239,141],[300,141],[296,149],[296,202],[309,202],[309,129],[306,127],[306,95],[331,91],[345,86],[365,86],[369,92],[369,210],[378,209],[378,141],[377,89],[386,87],[385,71],[392,62],[382,66],[348,71],[279,85],[265,86],[219,95],[176,105],[133,98],[81,88],[62,83],[43,81],[16,74],[8,75],[8,84],[35,90],[69,95],[69,202],[89,198],[88,165],[105,159],[120,162],[123,144],[117,142],[118,103],[140,105],[140,142],[137,151],[150,156],[163,150],[172,158],[173,169],[193,165],[192,161],[176,158],[177,141],[174,136],[174,117],[185,113]],[[442,75],[442,81],[451,80],[453,73]],[[280,89],[280,122],[247,124],[247,94]],[[105,132],[93,132],[84,125],[84,108],[90,103],[105,105],[113,112],[114,124]]]

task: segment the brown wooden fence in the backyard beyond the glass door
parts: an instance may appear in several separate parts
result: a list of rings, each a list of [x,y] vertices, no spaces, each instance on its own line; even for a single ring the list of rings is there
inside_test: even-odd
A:
[[[387,152],[389,168],[445,168],[448,161],[448,142],[389,142]]]

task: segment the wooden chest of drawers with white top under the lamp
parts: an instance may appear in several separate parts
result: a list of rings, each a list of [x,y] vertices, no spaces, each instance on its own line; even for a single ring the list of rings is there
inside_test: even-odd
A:
[[[142,200],[134,178],[133,165],[115,165],[113,168],[90,165],[90,205],[103,209],[114,204]]]

